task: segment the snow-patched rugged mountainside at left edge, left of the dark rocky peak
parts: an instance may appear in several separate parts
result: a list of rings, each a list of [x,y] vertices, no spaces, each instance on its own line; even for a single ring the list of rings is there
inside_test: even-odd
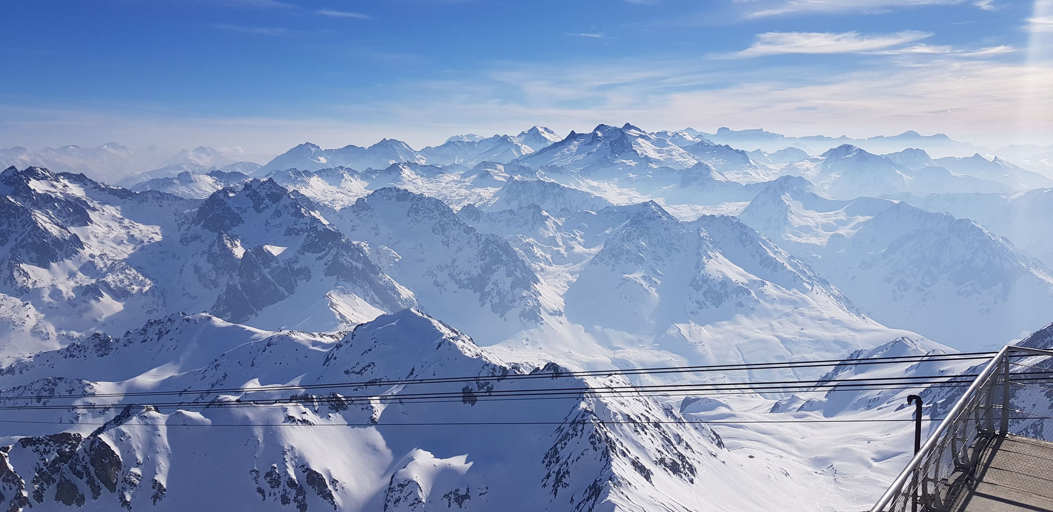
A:
[[[28,327],[27,321],[46,317],[59,331],[79,332],[131,312],[142,315],[132,324],[163,314],[153,281],[127,259],[158,241],[160,224],[193,208],[191,201],[40,168],[0,173],[0,293],[26,310],[24,320],[5,316],[4,321]]]

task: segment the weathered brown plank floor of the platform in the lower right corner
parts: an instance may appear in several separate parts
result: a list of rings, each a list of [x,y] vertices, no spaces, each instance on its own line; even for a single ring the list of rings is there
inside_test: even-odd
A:
[[[995,438],[974,476],[952,512],[1053,512],[1053,442]]]

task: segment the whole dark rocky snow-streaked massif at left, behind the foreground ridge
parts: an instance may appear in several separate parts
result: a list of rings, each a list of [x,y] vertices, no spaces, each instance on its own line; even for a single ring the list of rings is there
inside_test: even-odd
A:
[[[176,311],[320,331],[417,306],[372,262],[369,247],[273,180],[195,201],[8,169],[0,173],[0,310],[25,311],[4,314],[0,334],[54,343],[38,349]],[[299,311],[269,314],[282,302]]]

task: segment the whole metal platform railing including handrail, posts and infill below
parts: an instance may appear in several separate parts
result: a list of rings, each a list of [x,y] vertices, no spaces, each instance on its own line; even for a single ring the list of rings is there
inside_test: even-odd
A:
[[[962,489],[980,453],[1009,432],[1010,357],[1053,351],[1007,346],[991,359],[929,435],[871,512],[942,512]]]

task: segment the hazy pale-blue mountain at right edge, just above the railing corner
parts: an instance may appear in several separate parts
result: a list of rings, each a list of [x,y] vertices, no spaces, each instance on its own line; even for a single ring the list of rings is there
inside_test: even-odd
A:
[[[1020,337],[1053,311],[1053,271],[967,218],[889,199],[832,200],[793,178],[772,183],[739,218],[873,318],[953,347]]]

